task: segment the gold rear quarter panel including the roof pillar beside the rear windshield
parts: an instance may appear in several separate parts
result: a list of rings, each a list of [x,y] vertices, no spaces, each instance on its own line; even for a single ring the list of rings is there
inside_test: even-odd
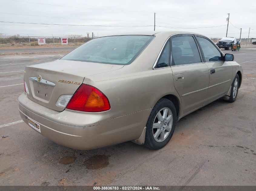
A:
[[[168,94],[179,97],[174,88],[171,68],[152,69],[168,37],[155,37],[130,65],[104,75],[85,77],[83,83],[90,83],[108,97],[111,118],[152,108]]]

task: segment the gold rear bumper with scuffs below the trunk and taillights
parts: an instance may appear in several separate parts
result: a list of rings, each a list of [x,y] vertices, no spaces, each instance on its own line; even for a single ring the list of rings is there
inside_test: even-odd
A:
[[[67,147],[89,150],[138,139],[147,123],[151,109],[111,119],[109,112],[88,113],[46,108],[28,99],[18,99],[20,116],[40,124],[41,134]],[[36,130],[35,130],[36,131]],[[38,132],[38,131],[37,131]]]

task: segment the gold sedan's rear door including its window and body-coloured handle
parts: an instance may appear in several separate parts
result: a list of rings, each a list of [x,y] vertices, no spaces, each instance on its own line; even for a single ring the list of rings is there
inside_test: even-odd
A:
[[[171,70],[181,97],[181,116],[201,107],[206,98],[209,73],[192,34],[171,37]]]

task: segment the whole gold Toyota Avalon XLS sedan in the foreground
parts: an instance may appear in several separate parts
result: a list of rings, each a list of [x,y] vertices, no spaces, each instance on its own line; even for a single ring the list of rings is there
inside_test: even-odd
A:
[[[18,108],[30,127],[71,148],[133,141],[160,149],[182,117],[224,96],[234,102],[242,71],[200,34],[99,37],[26,66]]]

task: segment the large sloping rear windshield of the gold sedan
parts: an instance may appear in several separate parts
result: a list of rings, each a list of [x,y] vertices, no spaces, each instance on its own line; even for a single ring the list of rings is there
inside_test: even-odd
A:
[[[154,36],[146,35],[95,38],[74,49],[61,59],[128,65],[137,58],[153,38]]]

